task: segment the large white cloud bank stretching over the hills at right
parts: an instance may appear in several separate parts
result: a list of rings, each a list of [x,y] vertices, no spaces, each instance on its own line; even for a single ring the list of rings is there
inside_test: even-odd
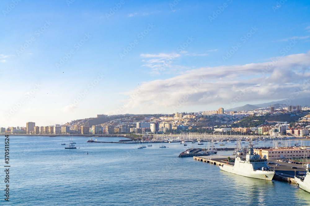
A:
[[[146,56],[160,56],[163,60],[169,57],[167,54]],[[148,66],[159,63],[159,60],[153,60]],[[271,63],[203,67],[190,69],[173,78],[144,82],[141,85],[144,90],[128,103],[124,112],[173,113],[178,108],[182,110],[184,107],[206,107],[210,104],[221,107],[229,104],[234,107],[235,102],[232,100],[241,92],[245,95],[239,102],[310,95],[310,51],[285,56],[266,71]],[[124,94],[132,95],[133,92]]]

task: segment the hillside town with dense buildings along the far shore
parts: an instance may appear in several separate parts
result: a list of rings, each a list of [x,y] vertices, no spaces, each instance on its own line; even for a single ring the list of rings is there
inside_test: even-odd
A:
[[[287,121],[267,119],[270,117],[285,116]],[[251,125],[234,127],[247,118],[260,118],[251,120]],[[264,117],[266,117],[264,119]],[[289,118],[295,121],[289,121]],[[98,124],[98,122],[100,124]],[[250,125],[250,124],[249,124]],[[308,137],[310,129],[310,114],[308,107],[288,106],[281,109],[274,107],[259,108],[250,111],[217,111],[181,112],[171,115],[97,115],[96,118],[72,120],[66,124],[36,126],[35,122],[27,122],[26,127],[1,128],[2,134],[171,134],[180,132],[212,132],[215,134],[241,134],[258,136],[296,136]]]

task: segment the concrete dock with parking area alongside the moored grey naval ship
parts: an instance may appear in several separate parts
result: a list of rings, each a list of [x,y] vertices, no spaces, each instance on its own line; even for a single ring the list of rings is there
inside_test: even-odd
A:
[[[193,159],[200,162],[211,163],[213,165],[218,166],[223,166],[224,164],[234,165],[235,164],[234,162],[227,161],[228,157],[230,157],[231,160],[235,159],[232,158],[231,156],[232,155],[216,155],[216,156],[200,156],[200,157],[194,156]],[[270,161],[275,163],[275,164],[268,164],[268,166],[270,166],[272,170],[275,170],[276,173],[275,176],[273,177],[273,180],[294,183],[295,174],[298,175],[299,171],[303,172],[306,171],[306,166],[300,164],[275,162],[274,160]],[[281,166],[276,166],[276,164],[280,164]],[[292,167],[297,167],[297,169],[293,169]]]

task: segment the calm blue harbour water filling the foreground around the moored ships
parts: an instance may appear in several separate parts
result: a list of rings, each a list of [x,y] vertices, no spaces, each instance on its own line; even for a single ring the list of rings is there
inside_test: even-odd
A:
[[[4,136],[2,136],[4,137]],[[120,138],[98,138],[118,141]],[[193,158],[185,147],[137,149],[139,144],[87,143],[64,149],[64,137],[10,136],[10,202],[1,205],[308,205],[295,184],[230,174]],[[188,143],[188,146],[191,143]],[[198,146],[197,143],[193,144]],[[205,146],[205,145],[199,145]],[[4,138],[0,166],[4,168]],[[88,151],[88,155],[87,155]],[[219,152],[219,155],[230,154]],[[4,188],[1,170],[0,188]]]

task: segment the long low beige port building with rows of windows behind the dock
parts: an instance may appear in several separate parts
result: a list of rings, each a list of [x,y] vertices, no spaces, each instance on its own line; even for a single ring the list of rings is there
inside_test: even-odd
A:
[[[254,152],[263,158],[266,155],[267,159],[282,159],[282,158],[308,158],[310,157],[310,148],[307,147],[284,147],[275,149],[254,149]]]

